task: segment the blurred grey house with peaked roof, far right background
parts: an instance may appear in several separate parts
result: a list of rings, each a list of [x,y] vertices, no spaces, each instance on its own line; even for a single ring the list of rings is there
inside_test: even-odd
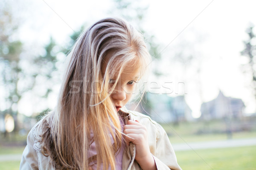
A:
[[[219,91],[215,99],[201,105],[201,113],[201,118],[205,120],[227,117],[241,119],[244,115],[244,102],[241,99],[224,96]]]

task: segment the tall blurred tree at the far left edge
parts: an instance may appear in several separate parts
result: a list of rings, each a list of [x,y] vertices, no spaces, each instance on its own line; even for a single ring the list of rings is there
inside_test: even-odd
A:
[[[1,83],[0,86],[4,87],[5,101],[8,106],[3,114],[9,113],[12,115],[17,125],[17,102],[20,100],[21,95],[17,88],[18,79],[20,77],[20,54],[23,50],[23,44],[20,40],[14,40],[13,33],[17,31],[18,22],[17,18],[12,14],[10,6],[6,1],[1,2],[0,6],[0,72]],[[4,116],[5,116],[4,115]],[[17,126],[15,126],[15,131]],[[6,136],[6,135],[5,135]]]

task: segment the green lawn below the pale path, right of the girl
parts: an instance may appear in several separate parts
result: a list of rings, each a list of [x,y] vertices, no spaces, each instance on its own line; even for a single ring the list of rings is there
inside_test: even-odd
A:
[[[256,146],[176,152],[183,170],[256,170]]]

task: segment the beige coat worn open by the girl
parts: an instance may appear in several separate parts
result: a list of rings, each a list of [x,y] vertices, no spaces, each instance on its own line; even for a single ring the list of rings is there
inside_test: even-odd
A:
[[[157,165],[157,170],[181,170],[177,164],[175,152],[163,127],[142,113],[128,111],[125,107],[121,108],[120,111],[122,114],[127,115],[125,124],[127,124],[129,119],[132,119],[138,120],[147,127],[148,145]],[[28,134],[27,145],[23,151],[20,162],[20,170],[54,170],[49,156],[46,157],[41,153],[41,144],[38,142],[40,137],[37,128],[39,123],[41,123],[41,121],[38,122]],[[122,159],[122,170],[141,170],[139,164],[134,159],[135,145],[131,143],[125,150],[126,152],[124,152]]]

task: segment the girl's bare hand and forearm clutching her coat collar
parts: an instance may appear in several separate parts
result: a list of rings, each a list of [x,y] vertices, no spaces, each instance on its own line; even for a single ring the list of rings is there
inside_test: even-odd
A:
[[[132,142],[136,146],[135,160],[140,164],[140,167],[143,170],[156,169],[154,158],[148,146],[146,127],[137,120],[128,120],[127,125],[124,127],[124,133],[127,135],[125,136],[125,143],[129,145]]]

